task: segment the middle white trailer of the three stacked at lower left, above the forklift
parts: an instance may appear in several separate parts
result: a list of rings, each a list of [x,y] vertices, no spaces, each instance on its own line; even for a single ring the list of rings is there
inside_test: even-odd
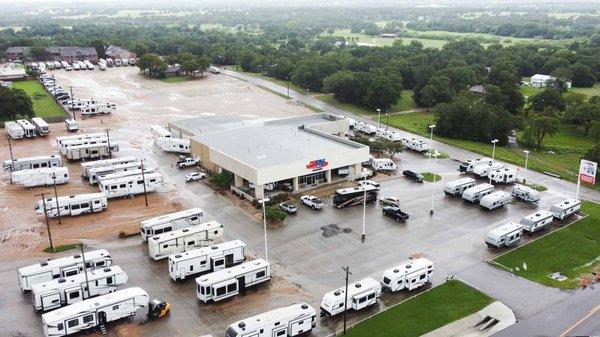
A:
[[[37,311],[50,311],[90,297],[110,294],[125,283],[127,274],[119,266],[112,266],[89,271],[87,279],[81,273],[34,284],[31,287],[33,308]]]

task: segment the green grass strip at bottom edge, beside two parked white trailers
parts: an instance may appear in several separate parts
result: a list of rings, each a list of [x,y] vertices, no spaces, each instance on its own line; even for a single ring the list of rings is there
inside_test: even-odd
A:
[[[355,325],[346,336],[420,336],[473,314],[492,301],[462,282],[448,281]]]

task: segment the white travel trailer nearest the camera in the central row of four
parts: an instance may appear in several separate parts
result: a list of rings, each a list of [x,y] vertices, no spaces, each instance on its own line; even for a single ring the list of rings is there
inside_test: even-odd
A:
[[[271,264],[256,259],[196,278],[196,296],[204,303],[217,302],[269,280]]]

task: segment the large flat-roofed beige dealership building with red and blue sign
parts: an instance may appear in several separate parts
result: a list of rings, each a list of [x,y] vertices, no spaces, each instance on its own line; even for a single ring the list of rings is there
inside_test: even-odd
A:
[[[301,191],[354,179],[369,147],[344,137],[348,120],[312,114],[271,120],[240,121],[196,117],[169,123],[174,137],[190,139],[191,155],[203,167],[229,171],[234,186],[256,198],[263,191]]]

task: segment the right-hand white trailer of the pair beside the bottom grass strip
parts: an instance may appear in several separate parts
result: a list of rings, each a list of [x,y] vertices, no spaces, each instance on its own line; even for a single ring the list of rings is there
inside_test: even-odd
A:
[[[381,283],[384,291],[396,292],[402,289],[416,289],[431,279],[433,262],[419,258],[405,262],[383,272]]]

